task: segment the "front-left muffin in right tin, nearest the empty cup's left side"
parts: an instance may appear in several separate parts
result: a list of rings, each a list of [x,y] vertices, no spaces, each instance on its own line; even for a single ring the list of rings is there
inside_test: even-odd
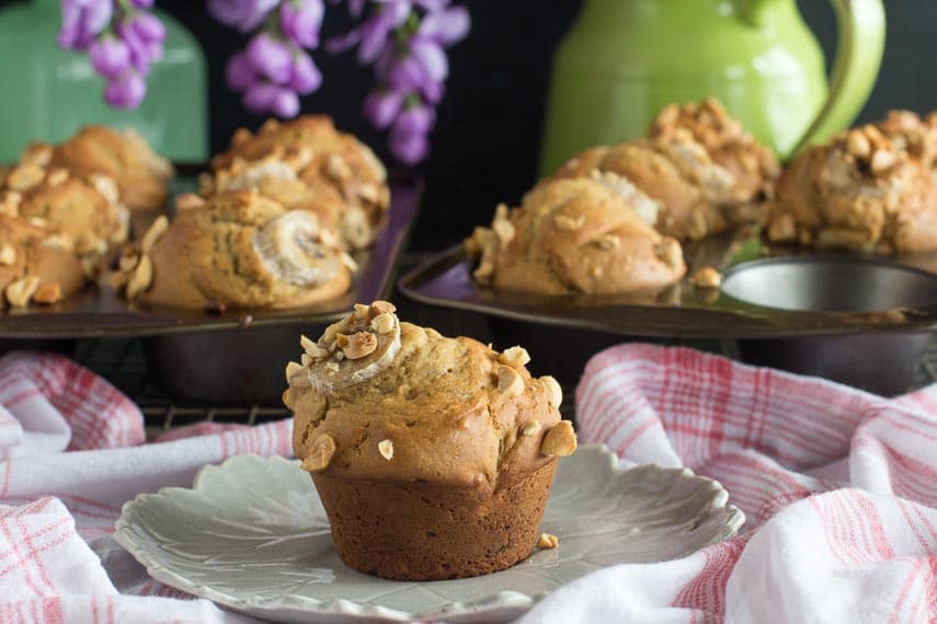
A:
[[[686,266],[679,243],[645,222],[655,210],[614,174],[545,181],[519,208],[499,206],[491,228],[476,228],[467,241],[478,262],[472,275],[495,288],[549,294],[663,288]]]

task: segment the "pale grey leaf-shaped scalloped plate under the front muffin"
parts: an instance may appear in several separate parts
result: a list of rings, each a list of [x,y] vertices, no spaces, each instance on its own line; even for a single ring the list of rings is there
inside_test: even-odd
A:
[[[238,455],[193,489],[124,505],[116,539],[162,582],[279,622],[502,622],[575,578],[620,563],[683,557],[745,521],[722,486],[688,470],[625,470],[605,447],[560,460],[542,531],[560,539],[477,578],[403,582],[358,574],[335,554],[329,522],[296,461]]]

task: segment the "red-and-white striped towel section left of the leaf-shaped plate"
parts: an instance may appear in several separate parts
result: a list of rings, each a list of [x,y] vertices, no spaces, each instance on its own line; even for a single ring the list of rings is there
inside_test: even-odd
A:
[[[0,622],[253,622],[152,580],[114,522],[126,500],[191,486],[205,464],[290,454],[290,436],[288,420],[199,425],[141,444],[140,411],[101,378],[61,356],[3,356]]]

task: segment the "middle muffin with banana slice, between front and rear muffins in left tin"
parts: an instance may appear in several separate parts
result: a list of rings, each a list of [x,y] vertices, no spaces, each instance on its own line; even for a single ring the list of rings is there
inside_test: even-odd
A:
[[[336,231],[350,250],[374,242],[375,227],[359,205],[347,204],[334,186],[300,180],[300,172],[311,161],[308,149],[275,147],[254,161],[235,158],[231,164],[199,177],[199,193],[210,196],[225,190],[255,188],[262,195],[283,204],[289,210],[315,212],[322,224]]]

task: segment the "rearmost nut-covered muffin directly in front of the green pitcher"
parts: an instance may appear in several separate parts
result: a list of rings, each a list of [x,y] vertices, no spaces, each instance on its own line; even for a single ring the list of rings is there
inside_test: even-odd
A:
[[[770,196],[780,174],[777,158],[747,134],[738,119],[729,116],[718,100],[665,106],[651,124],[648,136],[674,139],[682,130],[706,148],[712,162],[734,176],[734,201],[758,201]]]

